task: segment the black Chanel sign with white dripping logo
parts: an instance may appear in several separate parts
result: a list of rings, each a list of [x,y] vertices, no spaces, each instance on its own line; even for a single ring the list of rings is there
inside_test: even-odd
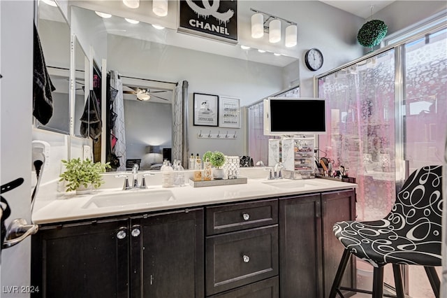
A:
[[[237,43],[237,0],[180,0],[179,31]]]

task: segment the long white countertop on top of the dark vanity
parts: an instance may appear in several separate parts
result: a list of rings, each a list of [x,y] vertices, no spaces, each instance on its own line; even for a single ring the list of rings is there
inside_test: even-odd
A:
[[[284,187],[272,186],[267,183],[282,183]],[[56,199],[45,206],[38,208],[32,214],[32,220],[36,224],[48,224],[67,222],[72,220],[98,219],[109,216],[131,215],[151,211],[163,211],[175,208],[192,208],[217,203],[244,201],[249,199],[261,199],[269,197],[281,197],[293,194],[306,194],[312,192],[327,192],[330,190],[353,189],[357,185],[326,179],[303,179],[303,180],[266,180],[248,179],[247,184],[219,185],[211,187],[184,187],[162,188],[161,185],[149,186],[147,190],[122,190],[121,188],[108,188],[94,190],[91,194],[76,195],[74,192],[59,192]],[[123,200],[133,196],[133,192],[142,194],[157,190],[170,190],[173,200],[159,202],[144,202],[122,205],[98,207],[90,204],[90,200],[98,194],[123,194]]]

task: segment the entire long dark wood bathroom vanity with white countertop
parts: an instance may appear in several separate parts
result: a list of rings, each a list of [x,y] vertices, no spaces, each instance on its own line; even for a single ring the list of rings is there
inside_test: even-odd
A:
[[[343,251],[332,225],[355,218],[355,187],[249,179],[59,197],[33,216],[33,297],[327,297]],[[135,199],[152,193],[163,200]]]

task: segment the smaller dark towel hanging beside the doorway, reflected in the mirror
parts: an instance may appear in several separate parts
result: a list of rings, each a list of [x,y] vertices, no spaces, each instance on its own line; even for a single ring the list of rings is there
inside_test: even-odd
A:
[[[98,100],[95,92],[90,90],[89,98],[85,103],[84,113],[82,114],[80,133],[82,136],[90,136],[94,141],[98,141],[103,127],[101,122],[101,111],[99,111]]]

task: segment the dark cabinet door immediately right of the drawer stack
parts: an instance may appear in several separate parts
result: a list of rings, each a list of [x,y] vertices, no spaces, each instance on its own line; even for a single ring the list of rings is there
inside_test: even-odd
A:
[[[279,199],[280,297],[323,297],[320,199]]]

